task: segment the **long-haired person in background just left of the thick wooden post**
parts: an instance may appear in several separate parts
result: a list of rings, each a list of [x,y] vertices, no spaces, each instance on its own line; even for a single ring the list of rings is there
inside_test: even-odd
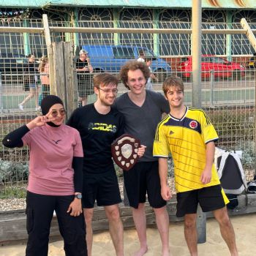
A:
[[[49,60],[48,56],[42,56],[38,67],[40,73],[40,80],[42,86],[42,92],[39,95],[38,105],[41,105],[41,101],[44,97],[50,94],[50,78],[49,78]]]

